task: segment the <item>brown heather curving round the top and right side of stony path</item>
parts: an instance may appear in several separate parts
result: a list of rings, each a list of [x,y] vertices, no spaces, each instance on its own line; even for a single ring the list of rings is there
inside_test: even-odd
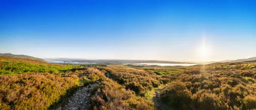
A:
[[[100,81],[98,87],[92,92],[91,109],[153,110],[155,108],[152,101],[145,97],[136,96],[136,93],[130,88],[108,78],[108,72],[104,69],[81,67],[74,71],[80,81]]]

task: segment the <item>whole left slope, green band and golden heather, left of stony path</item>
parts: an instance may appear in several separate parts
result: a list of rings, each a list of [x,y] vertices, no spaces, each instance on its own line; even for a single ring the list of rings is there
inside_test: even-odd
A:
[[[0,109],[47,109],[77,88],[79,77],[75,73],[59,73],[74,67],[0,56],[0,74],[5,74],[0,75]],[[9,75],[13,73],[22,74]]]

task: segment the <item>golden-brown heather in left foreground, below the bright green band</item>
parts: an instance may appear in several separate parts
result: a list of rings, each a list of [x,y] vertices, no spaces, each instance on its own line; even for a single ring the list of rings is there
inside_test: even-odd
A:
[[[64,73],[0,75],[0,109],[45,110],[72,92],[77,81]]]

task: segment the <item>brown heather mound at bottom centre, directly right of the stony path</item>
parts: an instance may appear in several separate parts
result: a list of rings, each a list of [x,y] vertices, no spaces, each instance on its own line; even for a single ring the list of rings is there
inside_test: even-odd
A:
[[[111,79],[101,82],[92,97],[94,110],[153,110],[154,103],[144,97],[138,97],[125,86]]]

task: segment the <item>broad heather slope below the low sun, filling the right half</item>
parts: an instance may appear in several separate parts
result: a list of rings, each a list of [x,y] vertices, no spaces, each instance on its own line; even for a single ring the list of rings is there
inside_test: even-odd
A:
[[[103,68],[110,73],[110,78],[141,97],[150,97],[149,92],[156,89],[151,83],[152,80],[160,81],[159,86],[164,87],[160,91],[161,103],[170,109],[256,108],[255,62],[214,63],[176,68],[110,66]],[[161,85],[162,83],[167,85]]]

